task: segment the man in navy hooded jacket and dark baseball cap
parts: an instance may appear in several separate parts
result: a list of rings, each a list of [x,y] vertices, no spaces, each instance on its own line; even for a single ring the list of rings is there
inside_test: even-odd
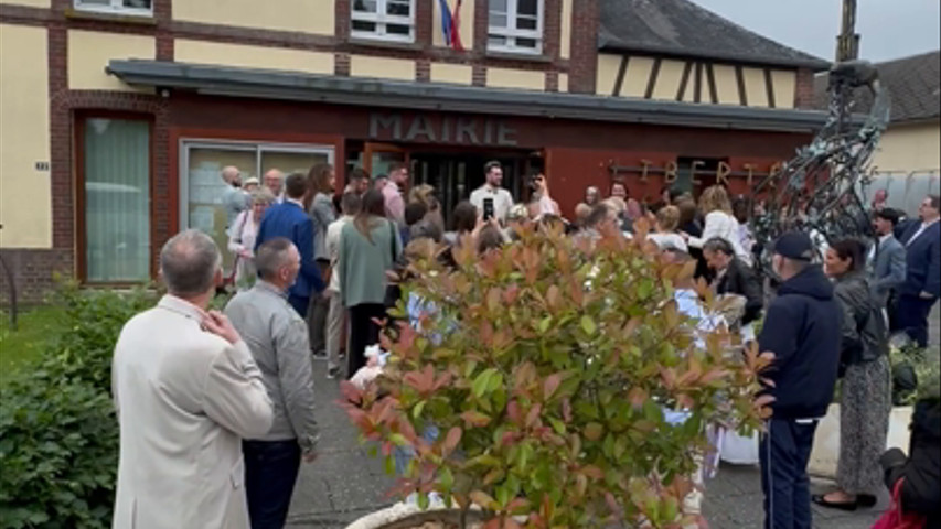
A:
[[[813,255],[805,234],[784,234],[774,242],[773,267],[782,283],[758,338],[761,352],[774,354],[763,374],[773,382],[768,387],[773,415],[759,453],[766,529],[811,528],[808,461],[836,384],[842,313]]]

